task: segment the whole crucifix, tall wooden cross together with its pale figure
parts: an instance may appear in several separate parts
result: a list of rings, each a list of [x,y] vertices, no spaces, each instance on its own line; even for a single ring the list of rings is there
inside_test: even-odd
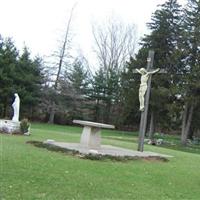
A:
[[[141,68],[136,69],[136,72],[141,74],[141,83],[139,89],[139,100],[140,100],[140,130],[139,130],[139,141],[138,141],[138,151],[143,151],[144,149],[144,136],[147,127],[147,116],[149,108],[149,98],[151,91],[151,77],[152,74],[160,71],[160,69],[151,70],[153,66],[154,51],[150,50],[147,58],[147,69]],[[161,72],[162,73],[162,72]]]

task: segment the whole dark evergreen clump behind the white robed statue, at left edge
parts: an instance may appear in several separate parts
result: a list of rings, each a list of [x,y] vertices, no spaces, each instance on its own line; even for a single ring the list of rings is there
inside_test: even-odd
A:
[[[21,118],[32,117],[41,96],[41,66],[41,59],[32,60],[26,47],[19,56],[12,39],[0,37],[1,117],[11,118],[14,93],[18,93],[21,99]]]

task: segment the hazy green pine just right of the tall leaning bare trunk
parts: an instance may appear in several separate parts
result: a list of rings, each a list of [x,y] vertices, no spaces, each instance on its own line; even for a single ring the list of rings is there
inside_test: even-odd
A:
[[[72,118],[89,118],[89,90],[91,77],[87,62],[82,57],[76,58],[71,70],[65,72],[64,81],[61,84],[61,94],[64,95],[70,109]],[[71,99],[71,100],[69,100]]]

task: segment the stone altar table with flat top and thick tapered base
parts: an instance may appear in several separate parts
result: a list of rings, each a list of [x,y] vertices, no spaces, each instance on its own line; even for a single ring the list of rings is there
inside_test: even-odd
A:
[[[73,120],[73,123],[83,125],[80,144],[90,149],[99,149],[101,147],[101,129],[114,129],[115,126],[90,121]]]

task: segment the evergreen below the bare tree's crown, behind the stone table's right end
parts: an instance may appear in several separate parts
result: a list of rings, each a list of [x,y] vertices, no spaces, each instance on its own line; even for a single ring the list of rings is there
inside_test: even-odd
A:
[[[91,99],[95,101],[94,120],[117,123],[116,112],[120,97],[120,73],[100,68],[93,77]]]

